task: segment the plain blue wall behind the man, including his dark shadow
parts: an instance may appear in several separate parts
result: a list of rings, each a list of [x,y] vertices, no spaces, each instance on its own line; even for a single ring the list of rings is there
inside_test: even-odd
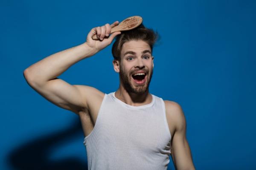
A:
[[[0,169],[86,169],[81,125],[23,71],[79,45],[91,28],[139,15],[161,38],[150,92],[178,102],[198,170],[256,169],[256,1],[13,1],[0,3]],[[110,93],[111,45],[59,78]],[[170,161],[169,169],[174,169]]]

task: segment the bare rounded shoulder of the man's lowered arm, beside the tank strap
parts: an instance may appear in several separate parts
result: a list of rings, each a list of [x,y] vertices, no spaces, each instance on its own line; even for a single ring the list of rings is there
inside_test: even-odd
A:
[[[166,107],[166,118],[168,121],[172,121],[175,125],[175,129],[183,129],[186,126],[186,120],[180,104],[169,100],[164,100],[164,103]]]

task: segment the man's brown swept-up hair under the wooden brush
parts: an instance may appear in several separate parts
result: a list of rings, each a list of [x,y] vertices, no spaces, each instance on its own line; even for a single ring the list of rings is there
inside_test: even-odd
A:
[[[114,59],[120,61],[122,45],[125,42],[131,41],[131,40],[143,40],[147,42],[151,48],[151,53],[153,53],[153,46],[157,41],[158,37],[159,35],[157,32],[154,32],[154,30],[152,29],[145,28],[143,23],[141,23],[140,26],[128,31],[122,31],[121,34],[115,37],[116,41],[113,43],[113,46],[112,46],[112,55]]]

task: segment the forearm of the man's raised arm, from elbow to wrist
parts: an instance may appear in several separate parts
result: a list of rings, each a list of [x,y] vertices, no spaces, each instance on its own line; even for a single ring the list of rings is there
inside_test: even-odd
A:
[[[66,71],[71,65],[95,54],[86,42],[81,45],[52,54],[24,71],[24,76],[30,82],[43,84]]]

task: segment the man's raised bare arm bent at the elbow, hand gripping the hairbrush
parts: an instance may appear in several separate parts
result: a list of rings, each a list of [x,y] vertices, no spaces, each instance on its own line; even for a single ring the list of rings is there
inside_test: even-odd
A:
[[[79,113],[88,108],[88,96],[102,95],[95,88],[85,85],[70,85],[58,76],[71,65],[82,59],[91,57],[113,41],[113,38],[121,32],[110,34],[111,28],[118,25],[118,21],[109,25],[92,28],[87,35],[86,42],[81,45],[52,54],[23,71],[28,84],[44,98],[53,104]],[[97,34],[101,40],[93,40]]]

